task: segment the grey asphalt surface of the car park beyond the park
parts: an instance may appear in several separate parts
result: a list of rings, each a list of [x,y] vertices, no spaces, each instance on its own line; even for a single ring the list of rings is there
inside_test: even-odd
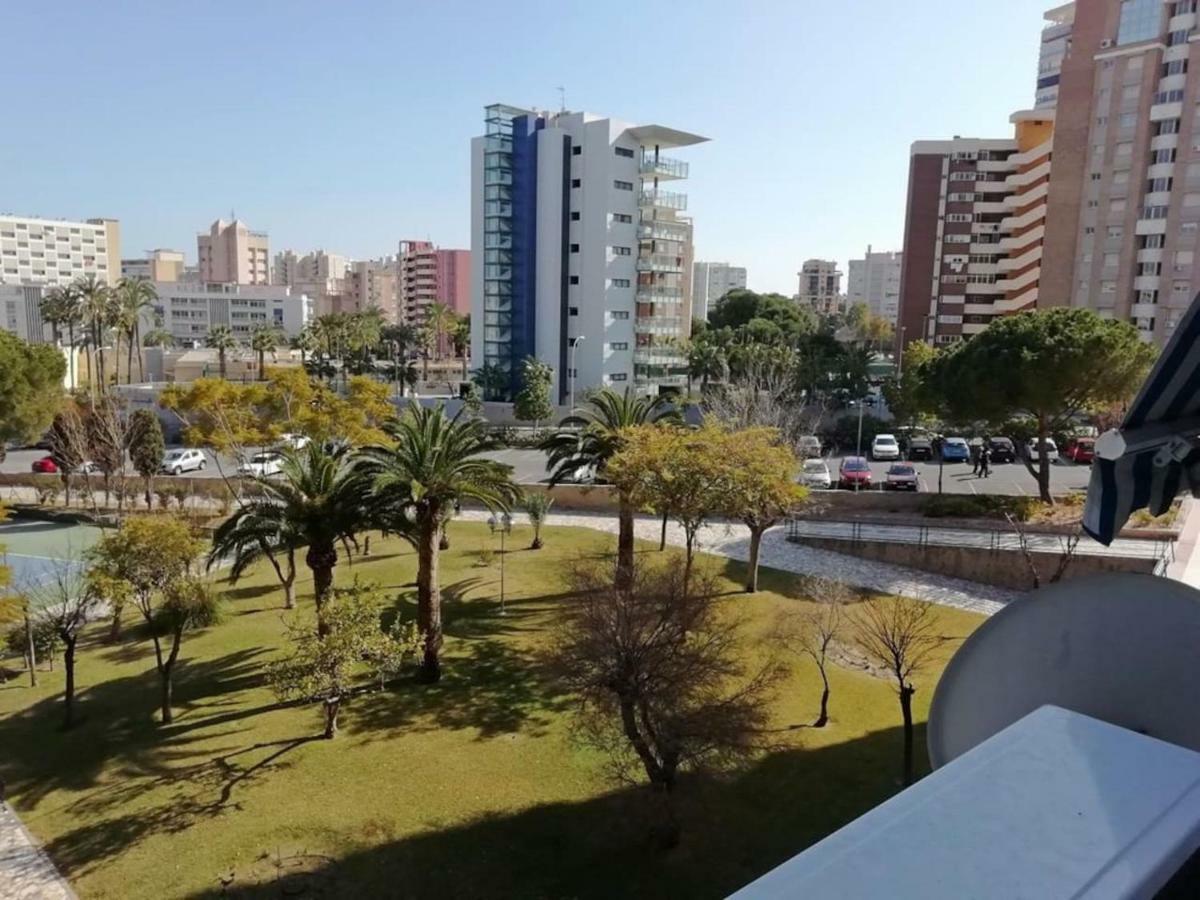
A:
[[[0,464],[0,472],[30,472],[34,460],[46,456],[44,450],[10,450],[8,458]],[[533,484],[546,479],[546,461],[540,450],[496,450],[487,454],[493,460],[508,463],[512,467],[517,481]],[[204,472],[187,473],[191,478],[218,478],[220,473],[212,462],[212,455],[208,454],[209,464]],[[829,474],[836,480],[838,466],[841,457],[828,457]],[[876,485],[886,480],[889,462],[872,462],[871,478]],[[937,463],[917,462],[912,463],[917,468],[920,479],[920,490],[925,492],[937,492]],[[222,458],[221,466],[226,474],[233,474],[236,464],[230,458]],[[1050,484],[1056,493],[1067,491],[1082,491],[1087,487],[1087,479],[1091,475],[1091,467],[1075,466],[1070,462],[1060,462],[1050,467]],[[992,466],[991,478],[982,479],[971,474],[971,463],[949,462],[946,463],[942,473],[942,491],[944,493],[995,493],[995,494],[1036,494],[1037,482],[1025,469],[1025,466],[1016,463],[1000,463]]]

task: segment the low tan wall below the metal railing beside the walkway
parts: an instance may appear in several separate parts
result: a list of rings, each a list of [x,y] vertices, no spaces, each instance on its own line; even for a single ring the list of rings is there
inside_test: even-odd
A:
[[[984,550],[980,547],[946,547],[917,544],[888,544],[884,541],[854,541],[848,538],[793,538],[820,550],[830,550],[846,556],[875,559],[880,563],[904,565],[954,578],[978,581],[1015,590],[1032,590],[1033,575],[1020,551]],[[1058,553],[1031,554],[1043,583],[1058,568]],[[1098,572],[1142,572],[1153,575],[1157,560],[1112,556],[1075,556],[1063,580],[1078,578]]]

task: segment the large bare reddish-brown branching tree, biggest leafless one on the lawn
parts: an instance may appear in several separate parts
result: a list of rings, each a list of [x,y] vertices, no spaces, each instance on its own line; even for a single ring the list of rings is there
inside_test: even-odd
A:
[[[608,756],[619,779],[644,773],[660,804],[659,838],[671,846],[680,769],[732,767],[767,745],[781,667],[748,671],[709,574],[688,582],[678,565],[643,564],[618,590],[611,564],[581,563],[571,582],[580,599],[551,664],[578,696],[578,737]]]

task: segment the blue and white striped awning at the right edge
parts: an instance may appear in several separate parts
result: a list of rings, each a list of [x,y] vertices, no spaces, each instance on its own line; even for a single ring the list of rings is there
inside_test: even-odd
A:
[[[1121,427],[1096,442],[1084,530],[1111,544],[1138,509],[1200,493],[1200,300],[1175,329]]]

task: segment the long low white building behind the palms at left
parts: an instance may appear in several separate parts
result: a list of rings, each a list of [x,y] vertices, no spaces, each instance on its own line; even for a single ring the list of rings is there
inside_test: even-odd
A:
[[[312,299],[286,284],[155,282],[154,287],[158,300],[143,318],[143,334],[161,326],[180,344],[203,344],[214,325],[228,325],[240,340],[250,340],[259,325],[295,337],[314,317]]]

